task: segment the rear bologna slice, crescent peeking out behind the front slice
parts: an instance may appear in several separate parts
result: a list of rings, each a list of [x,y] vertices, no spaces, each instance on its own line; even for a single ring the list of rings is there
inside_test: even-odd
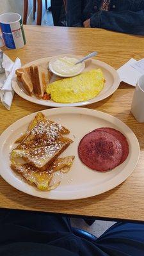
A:
[[[113,136],[115,136],[115,138],[120,141],[121,145],[122,145],[122,159],[120,161],[120,164],[122,164],[125,159],[127,159],[127,156],[129,155],[129,144],[127,142],[127,139],[125,138],[124,134],[122,134],[122,132],[117,131],[116,129],[113,128],[109,128],[109,127],[103,127],[103,128],[98,128],[95,131],[105,131],[108,132],[110,134],[112,134]]]

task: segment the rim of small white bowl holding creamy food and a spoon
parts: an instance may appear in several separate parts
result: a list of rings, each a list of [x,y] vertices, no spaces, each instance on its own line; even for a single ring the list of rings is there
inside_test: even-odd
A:
[[[56,72],[54,70],[54,68],[52,68],[52,63],[54,63],[54,61],[56,61],[58,58],[62,58],[62,57],[76,58],[77,61],[81,60],[81,58],[83,58],[83,57],[77,58],[77,56],[75,56],[73,54],[61,54],[61,55],[55,56],[54,58],[51,59],[51,61],[49,61],[49,69],[51,70],[51,72],[53,74],[55,74],[56,76],[60,76],[60,77],[72,77],[72,76],[77,76],[77,75],[81,74],[81,72],[83,72],[83,70],[85,68],[85,63],[84,62],[82,63],[83,66],[81,67],[81,69],[79,69],[79,71],[77,71],[76,73],[74,73],[72,75],[63,75],[63,74],[60,74],[60,73]]]

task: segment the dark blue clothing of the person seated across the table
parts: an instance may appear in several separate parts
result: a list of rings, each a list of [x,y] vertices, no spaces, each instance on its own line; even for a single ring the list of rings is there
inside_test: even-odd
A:
[[[90,19],[92,28],[144,35],[144,0],[111,0],[109,11],[100,10],[101,0],[67,0],[67,26],[83,27]]]

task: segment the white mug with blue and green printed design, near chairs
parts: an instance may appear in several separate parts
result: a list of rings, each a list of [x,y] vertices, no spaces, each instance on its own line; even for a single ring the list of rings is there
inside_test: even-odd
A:
[[[0,15],[0,28],[4,44],[9,49],[19,49],[26,44],[22,17],[19,13],[3,13]]]

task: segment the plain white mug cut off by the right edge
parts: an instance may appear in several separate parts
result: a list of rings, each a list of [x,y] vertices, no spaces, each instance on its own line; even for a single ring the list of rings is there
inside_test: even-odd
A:
[[[131,112],[138,122],[144,122],[144,75],[139,77],[138,83],[136,84]]]

